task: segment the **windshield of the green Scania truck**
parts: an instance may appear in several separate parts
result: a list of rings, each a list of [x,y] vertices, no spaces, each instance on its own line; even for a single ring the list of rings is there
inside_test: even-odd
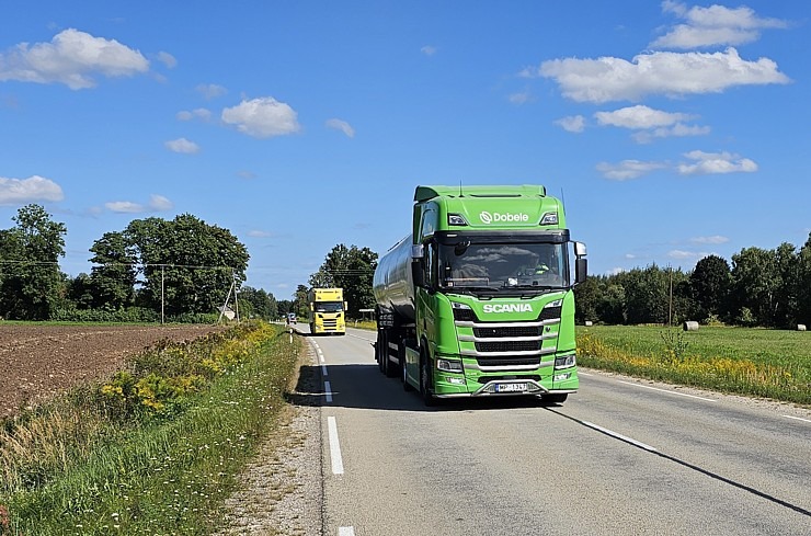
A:
[[[499,293],[569,286],[564,243],[439,244],[438,264],[445,289]]]

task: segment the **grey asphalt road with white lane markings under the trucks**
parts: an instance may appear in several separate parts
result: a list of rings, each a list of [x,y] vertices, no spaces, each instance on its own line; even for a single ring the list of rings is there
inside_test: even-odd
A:
[[[373,332],[307,339],[327,535],[811,534],[811,411],[595,370],[561,406],[425,408]]]

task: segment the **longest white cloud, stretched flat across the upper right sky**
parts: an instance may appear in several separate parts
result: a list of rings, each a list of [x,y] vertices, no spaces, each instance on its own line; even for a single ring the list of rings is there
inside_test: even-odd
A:
[[[544,61],[528,76],[551,78],[562,94],[579,102],[638,101],[647,95],[720,93],[749,84],[788,83],[768,58],[747,61],[734,48],[719,53],[640,54],[621,58],[564,58]]]

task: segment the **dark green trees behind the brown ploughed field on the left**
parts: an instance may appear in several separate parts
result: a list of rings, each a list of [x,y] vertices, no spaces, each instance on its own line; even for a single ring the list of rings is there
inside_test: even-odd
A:
[[[14,227],[0,229],[0,318],[208,321],[236,290],[241,316],[277,316],[273,295],[242,286],[247,248],[190,214],[105,232],[90,248],[90,274],[76,277],[59,269],[64,224],[35,204],[12,220]]]

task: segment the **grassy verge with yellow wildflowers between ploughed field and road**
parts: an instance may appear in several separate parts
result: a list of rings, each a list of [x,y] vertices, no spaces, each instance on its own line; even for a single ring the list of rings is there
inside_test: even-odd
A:
[[[210,534],[279,425],[301,346],[243,323],[165,342],[0,427],[0,535]]]

